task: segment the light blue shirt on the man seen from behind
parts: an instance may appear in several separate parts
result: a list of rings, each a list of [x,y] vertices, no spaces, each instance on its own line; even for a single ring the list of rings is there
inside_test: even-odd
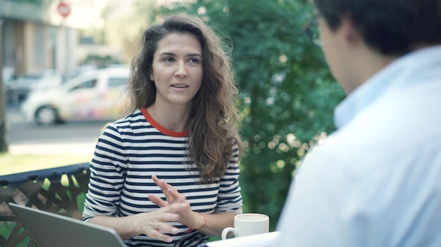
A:
[[[278,246],[441,246],[441,46],[395,60],[306,155]]]

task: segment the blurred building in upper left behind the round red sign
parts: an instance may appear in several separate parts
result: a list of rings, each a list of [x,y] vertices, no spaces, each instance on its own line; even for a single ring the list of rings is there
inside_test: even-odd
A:
[[[77,29],[96,25],[105,4],[106,0],[0,0],[4,71],[21,76],[35,69],[56,69],[70,78],[77,66]]]

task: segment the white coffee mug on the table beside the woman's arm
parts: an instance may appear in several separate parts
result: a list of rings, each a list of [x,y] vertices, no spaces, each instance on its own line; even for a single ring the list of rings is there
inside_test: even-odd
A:
[[[235,227],[226,227],[222,231],[222,240],[227,239],[228,233],[235,237],[262,234],[269,231],[270,218],[261,213],[242,213],[235,216]]]

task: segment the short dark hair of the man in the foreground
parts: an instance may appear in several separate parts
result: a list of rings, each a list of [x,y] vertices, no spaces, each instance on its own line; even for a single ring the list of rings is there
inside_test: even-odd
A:
[[[330,29],[350,18],[366,44],[404,55],[418,44],[441,44],[441,0],[314,0]]]

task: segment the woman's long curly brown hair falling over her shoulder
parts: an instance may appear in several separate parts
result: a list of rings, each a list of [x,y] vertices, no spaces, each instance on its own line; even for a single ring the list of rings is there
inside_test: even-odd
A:
[[[190,159],[196,163],[201,182],[221,178],[235,148],[242,153],[242,140],[235,100],[238,94],[230,58],[230,46],[223,43],[200,18],[170,16],[153,25],[142,36],[142,51],[134,58],[129,93],[132,110],[149,107],[156,100],[156,86],[151,81],[154,53],[158,42],[171,33],[194,35],[202,47],[204,75],[201,88],[192,99],[188,123]]]

